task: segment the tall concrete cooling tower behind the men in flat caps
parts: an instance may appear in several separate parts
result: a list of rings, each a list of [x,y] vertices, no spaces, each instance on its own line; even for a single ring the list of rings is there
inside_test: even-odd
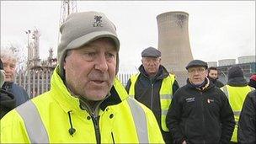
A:
[[[162,64],[176,75],[180,86],[186,83],[185,69],[193,56],[189,45],[189,13],[168,12],[157,15],[158,49],[162,52]]]

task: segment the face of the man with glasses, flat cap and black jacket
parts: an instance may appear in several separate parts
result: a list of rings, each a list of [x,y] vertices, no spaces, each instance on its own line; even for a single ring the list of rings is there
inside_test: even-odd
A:
[[[189,67],[189,81],[195,85],[199,85],[205,81],[207,71],[205,67]]]

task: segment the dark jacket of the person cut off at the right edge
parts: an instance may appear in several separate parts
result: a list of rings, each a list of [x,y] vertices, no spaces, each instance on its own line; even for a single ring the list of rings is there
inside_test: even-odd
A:
[[[256,143],[256,90],[248,93],[238,122],[237,140],[242,144]]]

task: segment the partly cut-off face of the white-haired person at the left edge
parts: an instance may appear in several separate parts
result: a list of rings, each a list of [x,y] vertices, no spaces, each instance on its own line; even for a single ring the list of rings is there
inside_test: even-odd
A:
[[[16,61],[10,58],[2,58],[3,70],[5,72],[5,82],[14,82]]]

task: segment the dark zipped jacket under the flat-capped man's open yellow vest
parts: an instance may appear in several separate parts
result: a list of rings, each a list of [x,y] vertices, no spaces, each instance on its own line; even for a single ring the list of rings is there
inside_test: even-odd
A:
[[[160,88],[165,77],[168,77],[169,73],[165,67],[159,67],[157,75],[155,77],[148,77],[144,67],[139,67],[140,75],[135,83],[135,99],[145,104],[149,109],[152,109],[153,114],[156,116],[157,123],[161,128],[164,141],[168,142],[170,134],[164,132],[161,126],[161,105],[160,105]],[[126,85],[126,91],[129,93],[131,87],[131,79]],[[173,83],[173,93],[179,88],[179,84],[175,80]],[[153,93],[153,94],[152,94]]]

